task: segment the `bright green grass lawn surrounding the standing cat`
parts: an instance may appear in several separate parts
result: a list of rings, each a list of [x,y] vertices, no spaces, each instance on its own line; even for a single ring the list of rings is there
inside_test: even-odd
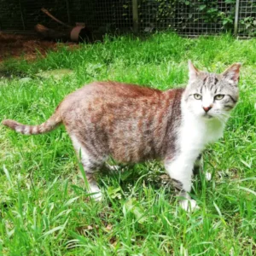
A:
[[[3,255],[255,255],[256,251],[256,40],[229,36],[147,40],[107,38],[103,44],[61,48],[34,62],[4,68],[32,77],[0,81],[0,119],[38,124],[69,92],[94,80],[148,84],[165,90],[186,84],[187,61],[222,72],[240,61],[240,102],[224,137],[207,148],[195,181],[200,210],[177,207],[160,184],[160,163],[100,175],[104,200],[81,187],[73,147],[63,127],[26,137],[0,126],[0,252]],[[60,80],[35,73],[71,68]]]

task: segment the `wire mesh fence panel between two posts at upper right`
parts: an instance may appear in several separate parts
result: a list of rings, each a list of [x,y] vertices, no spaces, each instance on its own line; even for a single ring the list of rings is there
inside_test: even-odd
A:
[[[172,28],[187,35],[232,31],[235,5],[227,1],[147,1],[139,6],[143,31]]]

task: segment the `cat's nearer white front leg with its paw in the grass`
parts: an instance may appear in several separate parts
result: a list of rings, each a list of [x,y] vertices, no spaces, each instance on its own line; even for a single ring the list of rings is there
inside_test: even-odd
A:
[[[193,211],[199,208],[196,201],[189,196],[192,186],[194,160],[188,160],[180,155],[174,160],[166,160],[165,166],[166,172],[172,178],[174,187],[177,190],[177,195],[180,197],[179,205],[186,211]]]

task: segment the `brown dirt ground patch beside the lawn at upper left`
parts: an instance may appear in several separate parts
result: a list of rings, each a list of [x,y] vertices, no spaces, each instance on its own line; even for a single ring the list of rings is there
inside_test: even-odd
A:
[[[75,43],[65,43],[71,48],[78,47]],[[4,34],[0,32],[0,62],[9,57],[24,57],[26,60],[34,60],[38,52],[46,55],[49,50],[56,50],[60,43],[46,41],[36,36]]]

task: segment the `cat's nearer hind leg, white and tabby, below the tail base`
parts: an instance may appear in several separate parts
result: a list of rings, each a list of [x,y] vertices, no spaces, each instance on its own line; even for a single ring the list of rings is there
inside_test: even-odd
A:
[[[89,192],[91,193],[91,197],[94,198],[96,201],[102,200],[102,192],[101,189],[98,187],[95,179],[95,173],[101,169],[102,164],[106,160],[106,158],[102,156],[93,157],[90,154],[90,151],[87,150],[83,143],[81,143],[75,135],[71,135],[71,140],[73,142],[73,147],[75,148],[79,160],[81,161],[84,173],[86,176],[86,181],[84,181],[85,185],[87,185]]]

